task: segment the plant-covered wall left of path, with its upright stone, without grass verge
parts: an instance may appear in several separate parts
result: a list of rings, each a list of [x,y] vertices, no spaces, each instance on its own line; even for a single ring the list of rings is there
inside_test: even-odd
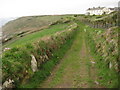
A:
[[[54,51],[72,38],[76,28],[77,24],[72,23],[66,30],[59,32],[59,35],[54,34],[45,41],[40,39],[5,51],[2,58],[3,83],[12,79],[17,86],[31,78],[42,64],[54,57]],[[4,86],[6,87],[5,84]]]

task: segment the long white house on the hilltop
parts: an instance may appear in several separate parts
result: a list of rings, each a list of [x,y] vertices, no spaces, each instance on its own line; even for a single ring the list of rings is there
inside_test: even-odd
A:
[[[110,14],[114,12],[115,8],[106,8],[106,7],[93,7],[89,8],[86,11],[86,15],[102,15],[102,14]]]

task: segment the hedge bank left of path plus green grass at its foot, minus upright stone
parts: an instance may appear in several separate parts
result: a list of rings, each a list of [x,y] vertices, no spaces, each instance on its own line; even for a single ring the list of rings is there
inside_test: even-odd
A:
[[[46,41],[38,40],[34,43],[19,45],[5,51],[2,57],[3,83],[8,79],[12,79],[15,81],[16,87],[26,87],[26,83],[29,80],[36,80],[35,82],[43,81],[50,75],[53,66],[58,63],[60,57],[70,47],[70,42],[75,36],[76,27],[77,24],[74,23],[66,30],[50,36]],[[35,73],[31,69],[31,55],[34,55],[37,60],[39,70]],[[39,77],[39,80],[36,77]],[[33,87],[35,86],[34,84],[32,83]]]

